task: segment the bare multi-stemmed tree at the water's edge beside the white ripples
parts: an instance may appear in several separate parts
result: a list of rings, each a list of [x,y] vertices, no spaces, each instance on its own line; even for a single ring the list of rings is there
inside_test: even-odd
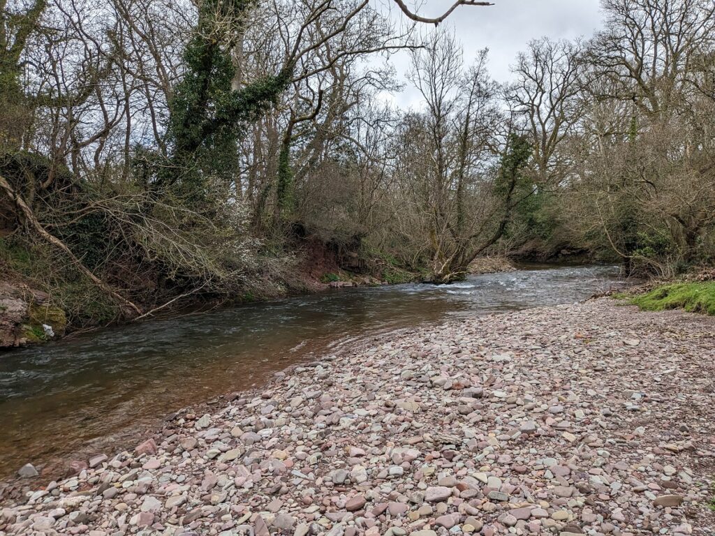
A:
[[[415,51],[410,78],[425,111],[408,116],[400,138],[405,148],[398,173],[415,207],[408,227],[429,237],[423,254],[430,279],[451,282],[498,240],[495,232],[503,232],[495,218],[502,205],[493,197],[502,119],[498,88],[486,71],[486,51],[463,69],[453,36],[442,31]]]

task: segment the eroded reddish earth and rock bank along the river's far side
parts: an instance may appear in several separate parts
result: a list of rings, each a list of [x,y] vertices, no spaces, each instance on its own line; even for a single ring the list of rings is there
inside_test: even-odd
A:
[[[280,280],[272,281],[272,284],[260,287],[255,292],[247,290],[231,296],[189,292],[183,297],[164,297],[163,304],[157,304],[158,296],[149,293],[142,302],[145,312],[138,318],[136,314],[127,317],[119,309],[78,317],[77,312],[73,314],[66,310],[63,299],[53,297],[49,288],[41,289],[43,285],[40,282],[14,272],[0,258],[0,357],[11,349],[56,342],[65,335],[126,325],[137,320],[180,317],[221,307],[316,294],[329,289],[379,287],[420,281],[419,272],[410,272],[382,258],[365,260],[356,254],[339,255],[328,252],[325,245],[319,243],[310,244],[309,253],[294,269],[283,273]],[[507,257],[499,255],[478,257],[468,267],[469,274],[495,274],[514,270],[516,265]],[[70,292],[69,282],[66,287],[61,292],[55,289],[56,294]],[[81,309],[94,311],[89,306]]]

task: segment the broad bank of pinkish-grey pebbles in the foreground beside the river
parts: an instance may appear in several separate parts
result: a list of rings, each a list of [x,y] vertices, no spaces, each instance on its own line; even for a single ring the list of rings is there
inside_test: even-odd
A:
[[[0,507],[0,534],[711,535],[715,319],[611,299],[403,330]]]

